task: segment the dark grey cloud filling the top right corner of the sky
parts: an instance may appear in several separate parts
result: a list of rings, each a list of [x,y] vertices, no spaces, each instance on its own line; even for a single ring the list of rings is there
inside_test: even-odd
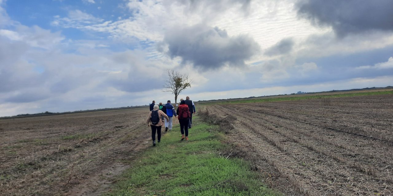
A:
[[[297,7],[299,16],[331,26],[338,36],[393,30],[392,0],[303,0]]]

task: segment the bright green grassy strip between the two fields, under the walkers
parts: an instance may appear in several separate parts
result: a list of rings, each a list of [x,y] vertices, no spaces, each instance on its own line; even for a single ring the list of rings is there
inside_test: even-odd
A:
[[[219,155],[228,149],[217,127],[202,123],[197,116],[189,141],[180,140],[175,126],[161,143],[143,152],[121,177],[110,196],[171,195],[281,195],[268,189],[250,170],[250,163]]]

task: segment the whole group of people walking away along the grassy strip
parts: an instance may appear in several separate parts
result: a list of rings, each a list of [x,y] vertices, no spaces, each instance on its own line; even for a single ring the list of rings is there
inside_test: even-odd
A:
[[[177,106],[177,104],[176,104]],[[165,105],[160,103],[156,105],[153,101],[150,104],[150,112],[147,117],[147,126],[151,127],[151,138],[153,140],[153,146],[156,146],[156,133],[157,142],[161,142],[161,128],[165,125],[165,132],[172,130],[172,118],[177,116],[180,123],[180,132],[182,133],[181,140],[188,139],[188,129],[191,129],[193,114],[195,114],[195,105],[189,96],[185,100],[180,99],[180,105],[178,105],[176,111],[174,106],[171,104],[171,100],[168,100]],[[165,119],[165,123],[164,123]]]

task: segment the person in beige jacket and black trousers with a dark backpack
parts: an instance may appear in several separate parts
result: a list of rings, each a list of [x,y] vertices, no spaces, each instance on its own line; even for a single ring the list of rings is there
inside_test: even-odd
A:
[[[156,132],[157,140],[161,142],[161,127],[162,127],[162,116],[168,120],[168,116],[158,109],[158,105],[154,105],[149,116],[147,116],[147,126],[151,127],[151,139],[153,140],[153,146],[156,146]]]

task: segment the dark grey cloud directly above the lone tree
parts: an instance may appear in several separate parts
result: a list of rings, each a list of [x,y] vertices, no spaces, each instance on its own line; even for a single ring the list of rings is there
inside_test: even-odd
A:
[[[181,57],[203,71],[226,64],[244,66],[244,61],[259,52],[259,45],[246,35],[228,36],[225,30],[206,25],[173,28],[165,33],[168,54]]]

